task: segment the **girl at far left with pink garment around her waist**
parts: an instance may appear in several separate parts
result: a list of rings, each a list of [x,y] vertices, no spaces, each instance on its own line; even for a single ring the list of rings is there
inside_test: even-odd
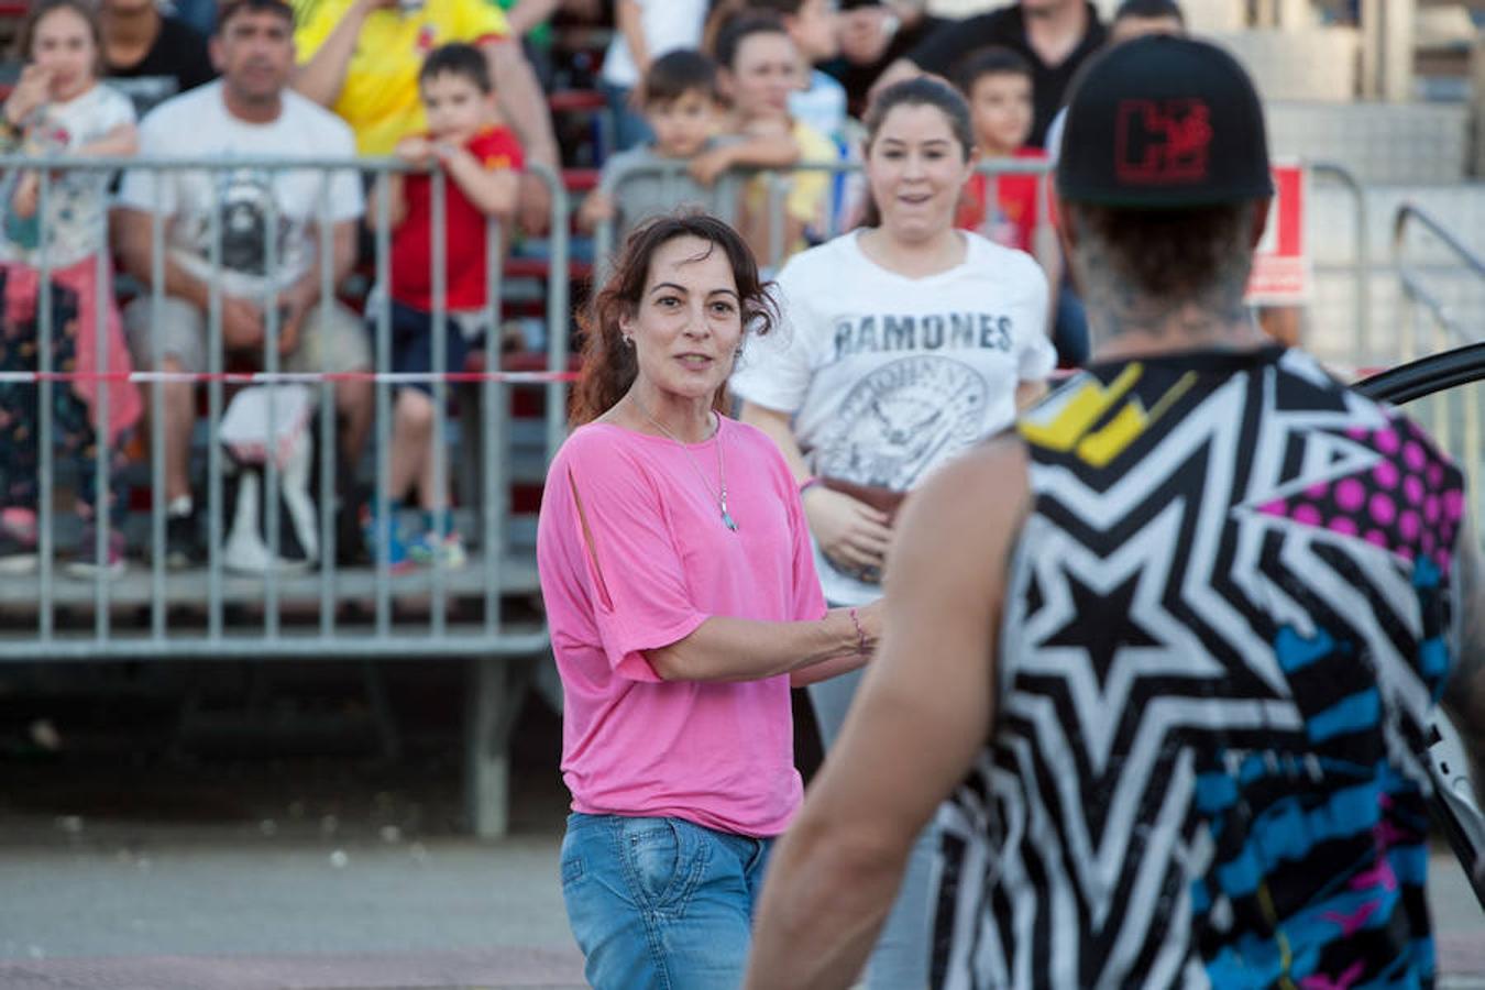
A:
[[[134,154],[134,107],[98,83],[101,36],[92,4],[42,0],[31,6],[19,39],[27,65],[0,113],[0,151]],[[53,172],[45,203],[39,171],[10,174],[0,187],[0,371],[39,370],[43,309],[50,309],[52,371],[91,376],[132,370],[107,261],[108,181],[101,171]],[[99,365],[99,358],[107,364]],[[6,573],[25,573],[37,564],[39,393],[36,384],[0,381],[0,570]],[[79,377],[55,383],[50,402],[53,436],[79,466],[77,509],[85,525],[68,570],[111,577],[123,571],[123,533],[117,524],[126,506],[119,491],[117,451],[122,435],[140,417],[138,389],[128,381],[104,387],[97,377]],[[99,447],[105,451],[104,505],[98,505],[95,490]],[[102,512],[113,527],[99,555],[97,522]]]

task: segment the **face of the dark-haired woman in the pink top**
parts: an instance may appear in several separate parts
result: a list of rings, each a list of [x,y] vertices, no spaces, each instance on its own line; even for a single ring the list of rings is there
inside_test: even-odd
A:
[[[644,294],[619,330],[634,341],[640,383],[711,401],[732,374],[742,340],[742,303],[728,252],[689,235],[662,243]]]

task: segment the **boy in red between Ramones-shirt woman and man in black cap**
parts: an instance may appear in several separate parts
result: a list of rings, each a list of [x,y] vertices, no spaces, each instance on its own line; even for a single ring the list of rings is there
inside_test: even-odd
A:
[[[982,160],[1042,160],[1040,148],[1026,147],[1032,125],[1031,62],[1008,47],[988,47],[974,55],[961,74],[970,104],[974,142]],[[999,243],[1037,254],[1038,175],[985,175],[976,172],[964,187],[955,226]]]

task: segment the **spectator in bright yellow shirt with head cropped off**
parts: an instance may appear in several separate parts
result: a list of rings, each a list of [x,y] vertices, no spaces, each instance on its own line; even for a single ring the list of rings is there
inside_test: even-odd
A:
[[[294,89],[340,114],[361,154],[391,154],[410,134],[426,131],[417,71],[428,52],[448,42],[478,45],[490,62],[500,110],[526,157],[558,168],[546,101],[505,13],[487,0],[294,0],[298,73]],[[521,227],[549,220],[546,187],[521,183]]]

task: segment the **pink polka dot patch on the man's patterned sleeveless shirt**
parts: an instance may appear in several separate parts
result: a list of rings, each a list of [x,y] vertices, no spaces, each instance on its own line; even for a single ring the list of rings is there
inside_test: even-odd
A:
[[[1380,430],[1351,427],[1345,435],[1380,459],[1353,475],[1301,482],[1302,494],[1265,502],[1259,511],[1360,537],[1408,561],[1429,557],[1448,574],[1466,508],[1460,472],[1400,416]]]

